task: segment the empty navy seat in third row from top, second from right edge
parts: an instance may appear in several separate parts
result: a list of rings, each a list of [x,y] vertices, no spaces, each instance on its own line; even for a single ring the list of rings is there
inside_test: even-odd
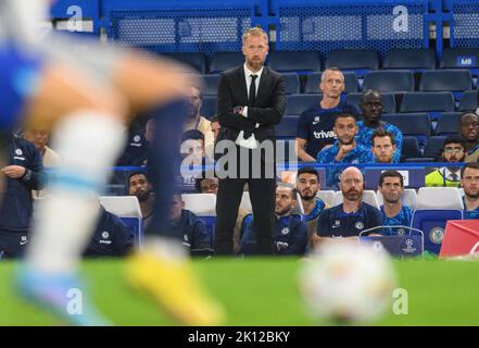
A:
[[[454,111],[454,97],[450,91],[405,92],[400,112],[428,112],[432,120],[439,119],[441,112]]]

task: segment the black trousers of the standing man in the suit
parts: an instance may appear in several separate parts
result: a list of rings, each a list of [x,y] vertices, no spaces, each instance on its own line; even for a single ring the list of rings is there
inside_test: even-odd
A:
[[[244,149],[241,150],[244,153]],[[273,253],[273,229],[275,223],[276,162],[272,153],[257,156],[257,150],[247,150],[248,159],[238,156],[236,177],[219,178],[216,197],[216,225],[214,234],[214,253],[232,254],[232,235],[238,209],[241,203],[244,184],[248,183],[251,206],[254,215],[257,252]],[[240,149],[237,147],[237,153]],[[254,156],[256,154],[256,157]],[[268,159],[265,159],[268,156]],[[259,160],[261,158],[261,160]],[[249,162],[248,164],[245,162]],[[241,167],[248,165],[247,175],[240,175]],[[261,166],[261,175],[254,169]],[[273,175],[272,175],[273,174]],[[218,175],[219,176],[219,175]],[[257,177],[259,176],[259,177]],[[273,177],[272,177],[273,176]],[[219,176],[222,177],[222,176]]]

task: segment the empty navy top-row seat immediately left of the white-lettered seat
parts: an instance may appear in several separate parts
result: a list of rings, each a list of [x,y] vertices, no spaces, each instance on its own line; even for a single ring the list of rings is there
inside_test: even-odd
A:
[[[434,70],[436,52],[433,49],[394,49],[385,55],[382,69]]]

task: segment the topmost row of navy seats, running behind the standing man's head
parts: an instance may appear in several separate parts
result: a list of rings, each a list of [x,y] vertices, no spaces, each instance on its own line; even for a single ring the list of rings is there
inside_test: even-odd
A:
[[[164,53],[182,61],[200,73],[215,74],[244,62],[241,52],[216,52],[207,59],[201,52]],[[301,57],[301,59],[299,59]],[[279,72],[319,72],[330,66],[356,71],[360,75],[367,71],[386,70],[434,70],[478,69],[479,49],[444,49],[438,64],[433,49],[395,49],[386,53],[382,64],[375,50],[333,50],[324,60],[315,51],[270,51],[267,64]]]

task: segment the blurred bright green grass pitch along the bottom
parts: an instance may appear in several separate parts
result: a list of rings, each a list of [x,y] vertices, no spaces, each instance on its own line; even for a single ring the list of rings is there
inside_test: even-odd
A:
[[[295,259],[196,260],[193,266],[224,303],[226,325],[320,325],[304,313]],[[391,311],[377,325],[479,325],[479,262],[395,261],[408,314]],[[16,264],[0,263],[0,325],[61,325],[56,318],[17,298]],[[83,276],[98,307],[116,325],[177,325],[123,281],[122,261],[86,261]]]

